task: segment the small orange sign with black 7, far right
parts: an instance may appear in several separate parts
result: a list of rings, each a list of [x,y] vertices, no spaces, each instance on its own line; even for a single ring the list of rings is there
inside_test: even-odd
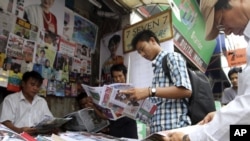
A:
[[[246,64],[246,48],[227,51],[227,62],[229,67]]]

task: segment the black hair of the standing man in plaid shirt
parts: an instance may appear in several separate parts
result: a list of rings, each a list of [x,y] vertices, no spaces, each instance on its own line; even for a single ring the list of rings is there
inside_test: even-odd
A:
[[[136,49],[136,44],[139,42],[139,41],[149,41],[150,38],[153,37],[155,39],[155,41],[160,45],[160,41],[159,39],[157,38],[157,36],[155,35],[155,33],[151,30],[142,30],[140,32],[138,32],[132,42],[131,42],[131,45],[133,47],[133,49]]]

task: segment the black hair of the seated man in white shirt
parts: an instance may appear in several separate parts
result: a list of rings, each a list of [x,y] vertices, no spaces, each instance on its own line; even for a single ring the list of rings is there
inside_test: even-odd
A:
[[[27,82],[30,78],[36,80],[39,84],[43,83],[43,77],[36,71],[27,71],[23,74],[22,81]]]

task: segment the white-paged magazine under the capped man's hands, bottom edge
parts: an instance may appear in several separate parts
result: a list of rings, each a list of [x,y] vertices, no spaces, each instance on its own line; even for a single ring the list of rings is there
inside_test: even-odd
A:
[[[186,127],[176,128],[176,129],[172,129],[172,130],[153,133],[153,134],[149,135],[148,137],[146,137],[145,139],[143,139],[142,141],[164,141],[164,139],[168,138],[167,135],[170,132],[183,132],[185,134],[188,134],[188,133],[191,133],[191,132],[197,130],[197,128],[199,128],[200,126],[201,125],[191,125],[191,126],[186,126]]]

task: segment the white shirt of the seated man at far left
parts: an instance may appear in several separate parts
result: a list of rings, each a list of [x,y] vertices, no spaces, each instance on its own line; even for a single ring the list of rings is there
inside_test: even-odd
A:
[[[32,127],[53,117],[44,98],[36,95],[30,103],[21,91],[6,96],[1,106],[0,122],[9,120],[19,128]]]

